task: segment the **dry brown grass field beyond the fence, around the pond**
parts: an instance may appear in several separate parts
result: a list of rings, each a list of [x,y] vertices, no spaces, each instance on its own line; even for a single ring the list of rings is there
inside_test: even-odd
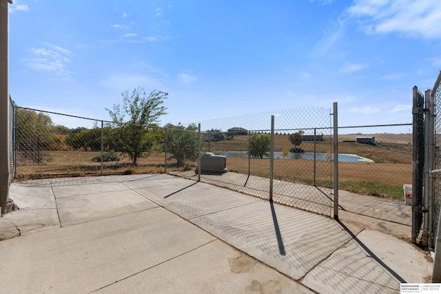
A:
[[[403,196],[402,185],[411,183],[412,145],[409,134],[372,134],[381,147],[351,142],[356,136],[339,136],[340,154],[356,154],[373,160],[375,163],[339,162],[340,189],[385,198]],[[283,151],[293,145],[289,136],[276,135],[274,151]],[[314,151],[313,142],[302,142],[300,148],[305,152]],[[322,142],[316,142],[316,152],[331,154],[332,141],[325,136]],[[232,140],[204,143],[203,151],[247,151],[248,136],[234,136]],[[65,176],[95,176],[101,174],[101,163],[93,158],[100,152],[92,151],[41,151],[39,162],[30,160],[24,152],[17,152],[16,179],[53,178]],[[147,155],[147,154],[145,154]],[[165,154],[150,154],[139,158],[133,167],[130,158],[120,155],[119,161],[104,162],[103,174],[152,174],[165,172]],[[170,156],[170,154],[168,155]],[[227,158],[227,169],[241,174],[249,171],[256,176],[269,176],[269,159]],[[167,171],[196,169],[197,162],[187,162],[185,167],[176,167],[176,160],[167,160]],[[279,180],[302,182],[312,185],[314,182],[314,161],[303,159],[274,160],[274,177]],[[316,185],[331,187],[333,167],[329,160],[316,162]]]

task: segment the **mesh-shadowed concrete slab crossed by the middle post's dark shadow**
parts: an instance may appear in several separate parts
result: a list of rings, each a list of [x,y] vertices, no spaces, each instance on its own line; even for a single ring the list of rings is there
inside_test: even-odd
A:
[[[330,218],[263,200],[191,221],[295,280],[351,240]]]

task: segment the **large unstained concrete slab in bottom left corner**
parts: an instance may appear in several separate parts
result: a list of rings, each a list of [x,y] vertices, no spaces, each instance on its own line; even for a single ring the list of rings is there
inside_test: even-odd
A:
[[[214,240],[162,208],[3,240],[1,291],[90,293]]]

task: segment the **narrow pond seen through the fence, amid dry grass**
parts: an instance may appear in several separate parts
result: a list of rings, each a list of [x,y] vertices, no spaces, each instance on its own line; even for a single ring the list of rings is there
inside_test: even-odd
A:
[[[216,151],[214,152],[216,155],[223,155],[227,157],[243,157],[248,158],[247,151]],[[269,152],[268,152],[269,154]],[[282,152],[274,152],[274,158],[283,158],[283,159],[307,159],[314,160],[314,153],[291,153],[287,156],[282,156]],[[334,159],[334,154],[326,154],[326,153],[316,153],[316,160],[332,160]],[[365,158],[362,156],[358,156],[355,154],[338,154],[338,161],[345,162],[374,162],[369,158]]]

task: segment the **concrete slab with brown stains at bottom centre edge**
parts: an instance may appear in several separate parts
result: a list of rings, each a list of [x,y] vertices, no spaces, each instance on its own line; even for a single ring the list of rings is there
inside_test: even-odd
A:
[[[96,293],[314,293],[220,240]]]

